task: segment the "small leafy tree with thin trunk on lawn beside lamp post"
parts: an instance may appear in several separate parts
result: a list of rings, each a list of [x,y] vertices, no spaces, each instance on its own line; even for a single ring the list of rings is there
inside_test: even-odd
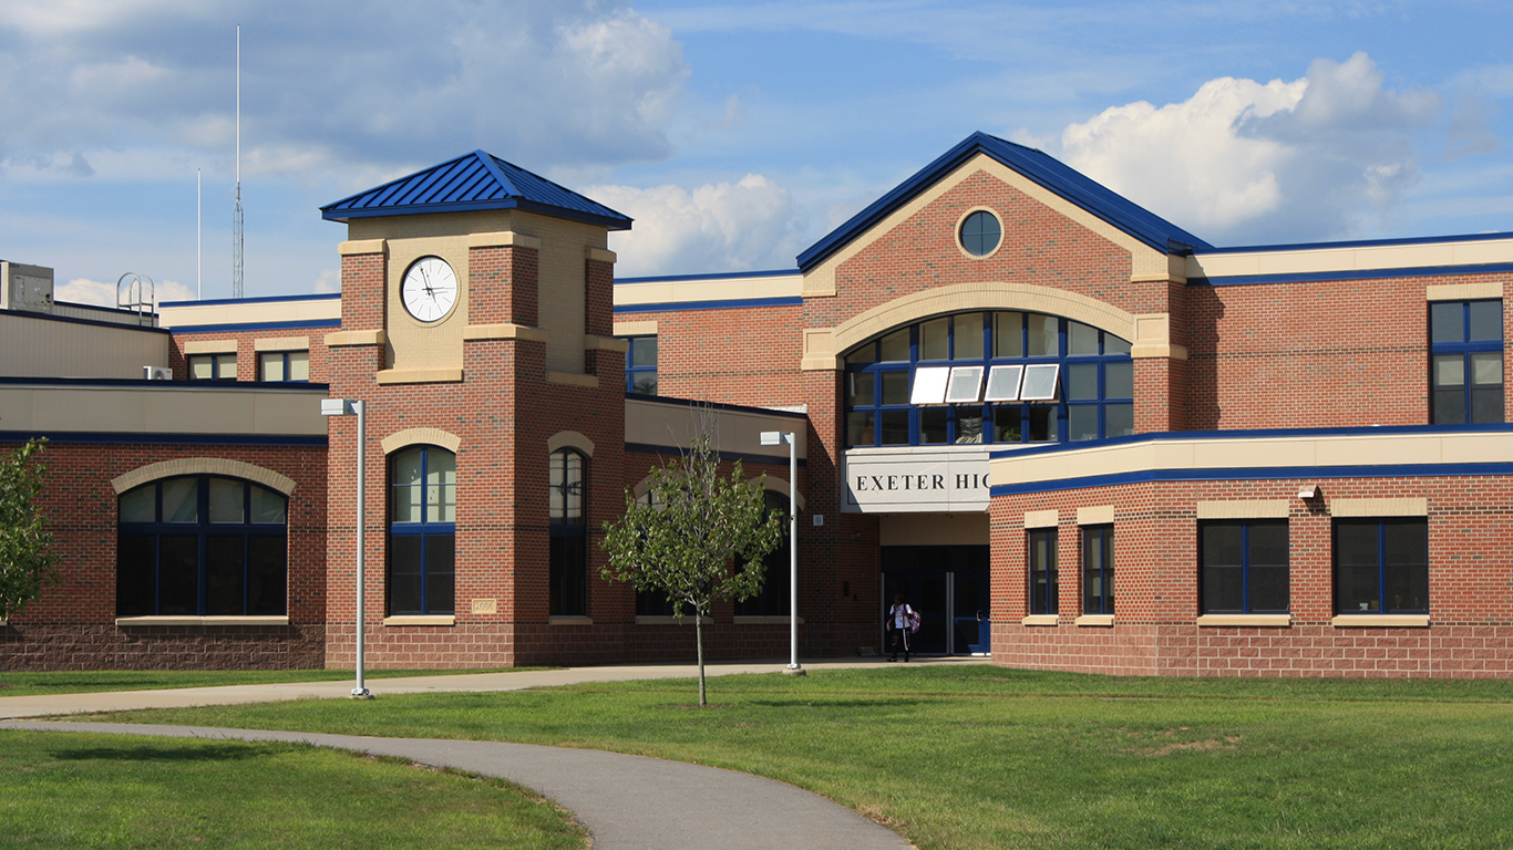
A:
[[[652,469],[651,499],[626,493],[625,516],[604,523],[605,579],[666,593],[679,620],[693,611],[701,706],[708,705],[704,617],[719,599],[761,591],[763,557],[782,544],[784,532],[784,517],[766,516],[763,479],[744,481],[740,461],[722,478],[719,466],[705,431],[676,464]]]

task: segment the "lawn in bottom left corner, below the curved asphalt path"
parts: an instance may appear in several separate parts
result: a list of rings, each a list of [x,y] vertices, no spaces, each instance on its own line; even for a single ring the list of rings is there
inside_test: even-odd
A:
[[[0,731],[0,847],[581,850],[504,782],[297,744]]]

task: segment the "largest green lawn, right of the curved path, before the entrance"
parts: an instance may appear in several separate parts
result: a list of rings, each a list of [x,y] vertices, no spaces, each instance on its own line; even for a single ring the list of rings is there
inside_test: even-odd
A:
[[[977,665],[380,696],[115,720],[601,747],[819,791],[934,848],[1513,845],[1513,682]]]

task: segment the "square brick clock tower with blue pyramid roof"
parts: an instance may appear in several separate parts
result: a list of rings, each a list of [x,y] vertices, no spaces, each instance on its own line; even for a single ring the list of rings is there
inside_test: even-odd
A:
[[[607,244],[631,219],[484,151],[321,212],[348,228],[331,395],[368,402],[366,446],[328,425],[327,664],[354,655],[357,451],[372,667],[593,656],[634,622],[598,579],[625,446]]]

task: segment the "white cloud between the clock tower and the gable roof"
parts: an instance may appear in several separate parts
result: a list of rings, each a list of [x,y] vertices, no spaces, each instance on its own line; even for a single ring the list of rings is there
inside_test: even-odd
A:
[[[635,219],[631,231],[610,234],[620,277],[785,269],[803,248],[793,195],[761,174],[693,191],[595,186],[586,194]]]

